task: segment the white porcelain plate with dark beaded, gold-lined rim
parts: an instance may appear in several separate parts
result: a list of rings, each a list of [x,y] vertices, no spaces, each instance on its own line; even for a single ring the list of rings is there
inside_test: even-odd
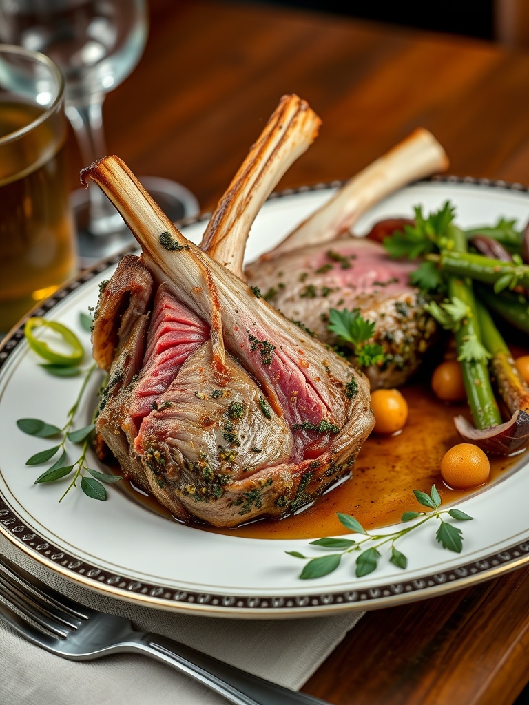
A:
[[[252,228],[248,259],[281,240],[334,188],[336,184],[318,185],[269,199]],[[494,223],[499,216],[516,219],[523,227],[529,219],[529,193],[521,185],[439,179],[387,198],[355,231],[365,232],[384,216],[411,217],[418,204],[425,212],[437,209],[446,200],[454,203],[456,221],[463,227]],[[204,227],[202,220],[182,225],[182,230],[197,242]],[[109,278],[116,261],[85,272],[37,314],[70,326],[89,351],[80,312],[95,306],[99,283]],[[399,543],[408,557],[406,570],[381,560],[375,572],[361,578],[355,577],[353,560],[343,560],[327,576],[300,580],[303,564],[286,551],[320,555],[321,549],[318,553],[308,541],[205,532],[147,510],[114,485],[107,486],[107,501],[74,489],[59,504],[61,483],[35,485],[42,470],[25,465],[51,442],[23,434],[16,420],[37,417],[63,425],[80,380],[44,372],[22,326],[4,339],[0,365],[0,530],[35,560],[104,594],[181,612],[302,617],[423,599],[529,563],[529,472],[523,456],[501,482],[458,502],[474,517],[463,527],[461,553],[442,548],[431,527],[421,527]],[[90,422],[98,385],[94,379],[78,425]],[[90,465],[97,467],[97,460],[90,458]]]

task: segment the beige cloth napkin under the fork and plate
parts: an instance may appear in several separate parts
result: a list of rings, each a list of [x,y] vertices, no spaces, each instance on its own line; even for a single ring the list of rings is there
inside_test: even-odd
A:
[[[79,587],[39,565],[4,537],[0,553],[88,606],[126,615],[141,630],[177,639],[251,673],[299,689],[362,613],[246,620],[177,614]],[[204,686],[146,656],[75,663],[33,646],[0,621],[1,705],[225,705]],[[279,705],[279,703],[278,703]]]

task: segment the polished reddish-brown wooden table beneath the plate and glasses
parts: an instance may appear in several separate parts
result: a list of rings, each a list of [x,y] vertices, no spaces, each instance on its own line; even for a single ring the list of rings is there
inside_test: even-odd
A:
[[[323,124],[278,189],[349,178],[418,126],[451,173],[529,184],[528,51],[251,3],[152,0],[151,20],[107,97],[109,151],[203,211],[290,92]],[[81,166],[74,153],[75,188]],[[509,705],[528,678],[529,568],[367,613],[304,689],[336,705]]]

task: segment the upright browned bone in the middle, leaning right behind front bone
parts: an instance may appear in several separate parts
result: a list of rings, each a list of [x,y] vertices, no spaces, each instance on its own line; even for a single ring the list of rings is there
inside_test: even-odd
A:
[[[312,144],[320,118],[297,95],[286,95],[219,201],[200,247],[243,275],[246,238],[255,216],[289,166]]]

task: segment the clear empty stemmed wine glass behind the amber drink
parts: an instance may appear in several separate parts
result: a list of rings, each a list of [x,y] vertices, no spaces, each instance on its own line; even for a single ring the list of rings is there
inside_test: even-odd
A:
[[[107,156],[102,106],[137,66],[149,29],[146,0],[0,0],[0,40],[47,54],[63,71],[65,111],[85,166]],[[140,178],[171,221],[197,214],[183,185]],[[121,215],[95,184],[72,195],[81,266],[133,242]]]

